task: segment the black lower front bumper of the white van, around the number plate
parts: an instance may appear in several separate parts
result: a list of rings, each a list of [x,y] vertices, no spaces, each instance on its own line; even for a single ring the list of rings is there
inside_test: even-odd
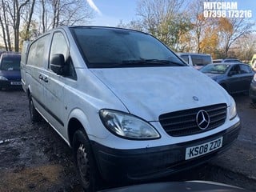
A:
[[[117,150],[92,142],[94,155],[102,178],[108,182],[131,182],[161,178],[198,166],[227,150],[238,138],[240,122],[211,135],[191,142],[136,150]],[[222,147],[209,154],[185,160],[186,148],[223,137]],[[118,145],[118,143],[117,143]]]

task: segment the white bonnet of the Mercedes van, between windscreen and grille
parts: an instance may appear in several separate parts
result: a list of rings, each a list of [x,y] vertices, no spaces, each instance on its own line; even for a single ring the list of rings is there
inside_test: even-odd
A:
[[[120,98],[130,114],[146,121],[158,121],[159,114],[171,111],[226,103],[230,97],[211,78],[191,67],[91,71]]]

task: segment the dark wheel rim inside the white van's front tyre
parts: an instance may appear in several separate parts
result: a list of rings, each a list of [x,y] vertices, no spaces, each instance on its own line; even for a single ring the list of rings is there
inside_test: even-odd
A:
[[[80,144],[77,151],[77,162],[79,174],[82,178],[82,182],[85,186],[90,184],[90,166],[86,154],[86,148],[83,144]]]

